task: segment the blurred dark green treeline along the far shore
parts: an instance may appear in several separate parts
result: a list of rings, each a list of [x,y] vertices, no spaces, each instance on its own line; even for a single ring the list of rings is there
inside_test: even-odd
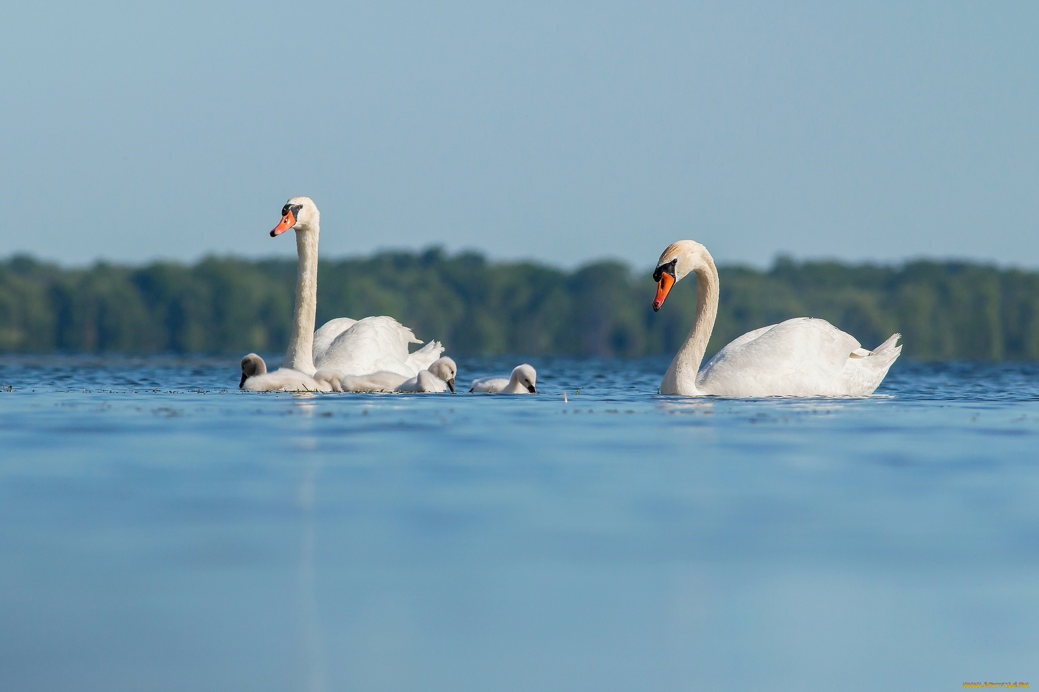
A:
[[[865,348],[902,332],[920,359],[1039,359],[1039,272],[956,261],[722,267],[709,352],[788,317],[823,317]],[[0,352],[284,350],[294,259],[209,257],[192,266],[0,261]],[[673,352],[692,325],[695,281],[654,313],[654,283],[624,265],[575,271],[480,254],[381,252],[322,261],[318,325],[389,314],[453,354]]]

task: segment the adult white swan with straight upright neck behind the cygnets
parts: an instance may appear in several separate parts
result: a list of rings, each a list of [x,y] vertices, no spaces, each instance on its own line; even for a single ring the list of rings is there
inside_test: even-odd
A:
[[[329,320],[314,331],[318,302],[318,236],[321,213],[310,197],[293,197],[282,207],[282,221],[271,238],[288,229],[296,231],[296,307],[292,334],[285,353],[285,367],[312,376],[318,369],[343,375],[397,372],[411,378],[429,367],[444,347],[430,341],[408,353],[408,344],[422,343],[415,333],[393,317]],[[316,367],[315,367],[316,366]]]

